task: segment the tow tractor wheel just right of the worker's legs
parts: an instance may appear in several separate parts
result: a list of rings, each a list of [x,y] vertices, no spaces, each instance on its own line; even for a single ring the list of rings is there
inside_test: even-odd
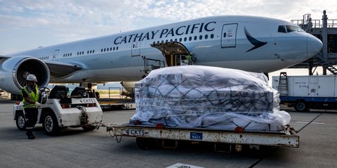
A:
[[[48,136],[55,136],[60,132],[58,121],[53,112],[46,112],[46,114],[44,114],[42,127],[44,129],[44,133]]]

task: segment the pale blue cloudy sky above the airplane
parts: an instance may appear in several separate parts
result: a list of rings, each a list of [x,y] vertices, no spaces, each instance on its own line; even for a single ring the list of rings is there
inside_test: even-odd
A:
[[[0,0],[0,55],[213,15],[337,19],[335,0]]]

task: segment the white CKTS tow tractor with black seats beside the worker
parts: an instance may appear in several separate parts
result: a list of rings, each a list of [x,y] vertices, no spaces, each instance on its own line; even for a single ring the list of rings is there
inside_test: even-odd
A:
[[[53,136],[67,127],[82,127],[86,131],[95,129],[94,123],[102,122],[103,111],[94,97],[84,87],[75,88],[69,96],[66,86],[56,85],[53,89],[39,88],[41,107],[38,109],[37,124],[44,132]],[[13,117],[16,126],[25,130],[25,115],[22,102],[14,105]]]

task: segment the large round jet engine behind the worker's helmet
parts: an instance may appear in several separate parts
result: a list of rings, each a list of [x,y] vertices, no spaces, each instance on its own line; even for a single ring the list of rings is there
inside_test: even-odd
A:
[[[10,93],[20,94],[27,84],[26,77],[34,74],[38,86],[47,86],[51,74],[42,60],[32,56],[15,56],[4,62],[0,61],[0,88]]]

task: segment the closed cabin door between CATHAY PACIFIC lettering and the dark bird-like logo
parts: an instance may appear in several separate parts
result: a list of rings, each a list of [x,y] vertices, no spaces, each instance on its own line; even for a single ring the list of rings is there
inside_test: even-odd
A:
[[[221,32],[221,48],[237,46],[237,23],[223,25]]]

